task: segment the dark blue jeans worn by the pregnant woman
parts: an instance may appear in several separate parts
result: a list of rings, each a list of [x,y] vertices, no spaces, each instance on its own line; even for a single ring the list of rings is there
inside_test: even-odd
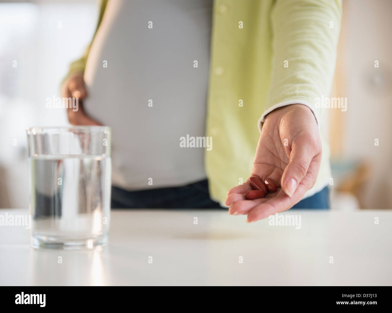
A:
[[[212,201],[208,181],[198,181],[183,187],[127,191],[112,187],[112,208],[222,208]],[[329,208],[329,191],[325,187],[317,194],[299,201],[293,208]],[[226,208],[227,210],[227,208]]]

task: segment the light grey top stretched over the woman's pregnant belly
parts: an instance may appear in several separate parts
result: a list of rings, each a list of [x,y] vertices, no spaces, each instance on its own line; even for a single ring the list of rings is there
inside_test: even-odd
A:
[[[205,179],[205,149],[181,148],[180,137],[205,136],[211,10],[212,0],[109,0],[85,68],[83,106],[112,127],[114,186]]]

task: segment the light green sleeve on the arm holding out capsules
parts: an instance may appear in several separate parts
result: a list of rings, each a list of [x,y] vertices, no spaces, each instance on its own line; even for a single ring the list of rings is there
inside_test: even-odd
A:
[[[272,75],[266,111],[299,103],[319,123],[317,98],[328,97],[336,62],[340,0],[278,0],[272,11]]]

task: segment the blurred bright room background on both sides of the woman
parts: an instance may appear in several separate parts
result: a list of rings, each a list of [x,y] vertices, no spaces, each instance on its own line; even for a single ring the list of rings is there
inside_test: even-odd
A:
[[[98,0],[0,0],[0,208],[29,205],[26,127],[69,125],[60,97],[69,63],[96,27]],[[328,110],[333,210],[392,209],[392,1],[343,0]],[[378,65],[378,67],[375,66]]]

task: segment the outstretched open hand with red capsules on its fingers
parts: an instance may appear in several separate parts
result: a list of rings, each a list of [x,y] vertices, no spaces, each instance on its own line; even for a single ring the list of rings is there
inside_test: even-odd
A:
[[[321,140],[312,111],[305,105],[288,105],[265,118],[251,175],[271,178],[278,190],[265,198],[246,200],[253,188],[247,181],[229,190],[229,214],[247,215],[247,222],[289,210],[314,183],[321,163]]]

